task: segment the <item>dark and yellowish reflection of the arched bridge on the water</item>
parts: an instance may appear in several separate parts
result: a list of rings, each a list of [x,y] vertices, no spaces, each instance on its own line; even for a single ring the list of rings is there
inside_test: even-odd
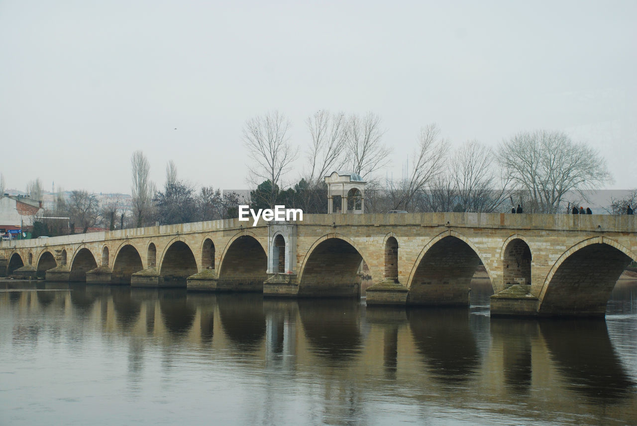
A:
[[[624,424],[637,418],[634,379],[604,320],[489,320],[456,308],[365,308],[352,299],[282,301],[178,289],[70,285],[72,291],[45,291],[65,286],[0,292],[5,307],[59,319],[44,324],[32,315],[14,327],[13,344],[69,329],[81,341],[78,327],[90,327],[130,340],[136,371],[144,368],[145,351],[166,347],[169,357],[176,355],[168,348],[185,346],[202,360],[218,353],[224,362],[248,359],[252,368],[315,374],[326,399],[399,383],[414,403],[480,401],[497,410],[522,404],[531,417],[541,418],[538,411],[593,419],[603,413]]]

